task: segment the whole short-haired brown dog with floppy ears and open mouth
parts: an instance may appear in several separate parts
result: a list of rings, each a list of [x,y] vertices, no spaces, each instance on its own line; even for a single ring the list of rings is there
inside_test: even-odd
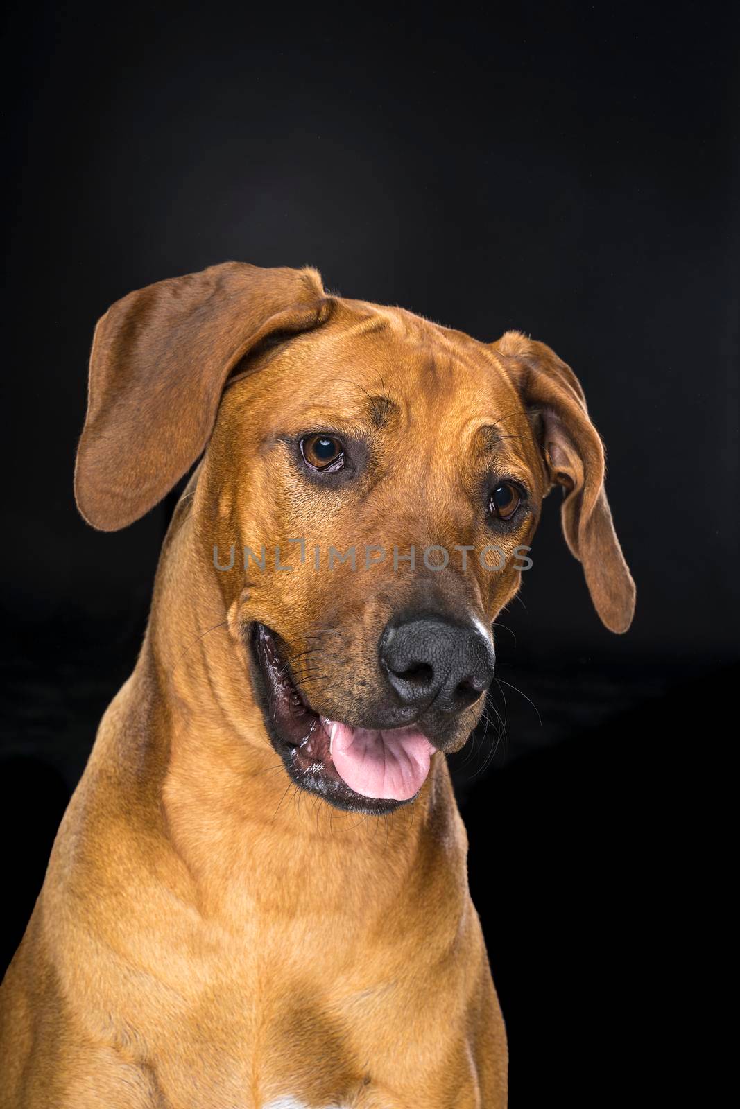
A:
[[[443,752],[554,485],[630,623],[580,386],[515,332],[229,263],[99,323],[80,510],[123,528],[204,448],[2,987],[0,1103],[503,1106]]]

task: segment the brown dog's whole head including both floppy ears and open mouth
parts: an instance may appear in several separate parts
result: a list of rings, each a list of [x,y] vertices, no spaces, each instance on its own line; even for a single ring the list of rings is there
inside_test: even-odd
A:
[[[236,654],[291,776],[341,807],[408,801],[465,743],[554,486],[601,620],[629,627],[582,390],[516,332],[480,343],[310,267],[132,293],[95,330],[80,511],[125,527],[204,448],[191,522]]]

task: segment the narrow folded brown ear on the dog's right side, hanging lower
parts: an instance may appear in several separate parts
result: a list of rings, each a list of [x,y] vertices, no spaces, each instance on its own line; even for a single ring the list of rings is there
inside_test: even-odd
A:
[[[635,613],[635,582],[604,488],[604,445],[578,378],[548,346],[518,332],[507,332],[491,347],[529,411],[549,488],[565,490],[562,531],[582,563],[596,611],[610,631],[627,631]]]

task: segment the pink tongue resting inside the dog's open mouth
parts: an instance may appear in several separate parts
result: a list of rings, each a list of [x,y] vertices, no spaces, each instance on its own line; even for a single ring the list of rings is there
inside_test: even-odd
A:
[[[339,777],[363,797],[408,801],[429,773],[434,747],[415,728],[376,732],[322,721]]]

